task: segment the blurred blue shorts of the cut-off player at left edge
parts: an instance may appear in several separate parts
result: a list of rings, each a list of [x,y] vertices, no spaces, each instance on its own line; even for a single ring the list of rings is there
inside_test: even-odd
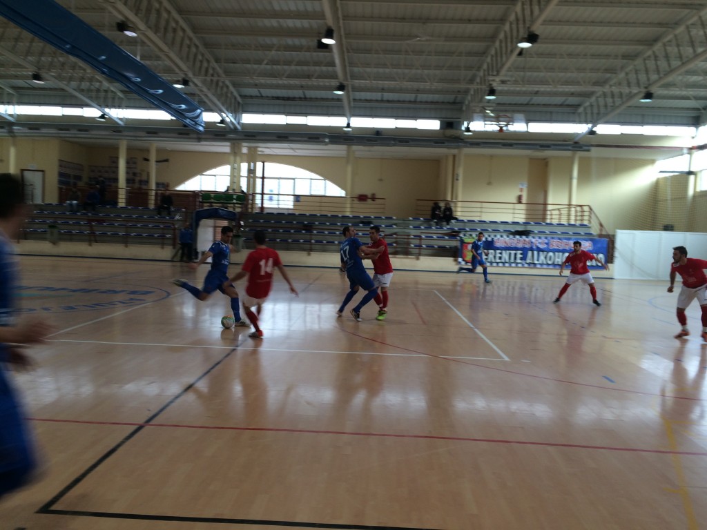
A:
[[[0,497],[28,481],[35,468],[23,417],[13,389],[0,372]]]

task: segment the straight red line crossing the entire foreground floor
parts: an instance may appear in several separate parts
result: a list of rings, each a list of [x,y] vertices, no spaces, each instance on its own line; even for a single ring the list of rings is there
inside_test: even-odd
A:
[[[409,438],[418,440],[449,440],[452,442],[486,442],[489,444],[536,445],[540,447],[568,447],[570,449],[597,449],[600,451],[623,451],[630,453],[677,454],[689,457],[707,457],[707,452],[667,451],[665,449],[638,449],[634,447],[609,447],[603,445],[560,444],[554,442],[522,442],[520,440],[495,440],[493,438],[466,438],[457,436],[395,435],[388,432],[347,432],[343,430],[278,429],[266,427],[219,427],[211,425],[179,425],[175,423],[132,423],[122,421],[54,420],[52,418],[27,418],[30,421],[49,423],[78,423],[81,425],[123,425],[127,427],[166,427],[176,429],[243,430],[252,432],[293,432],[313,435],[371,436],[385,438]]]

